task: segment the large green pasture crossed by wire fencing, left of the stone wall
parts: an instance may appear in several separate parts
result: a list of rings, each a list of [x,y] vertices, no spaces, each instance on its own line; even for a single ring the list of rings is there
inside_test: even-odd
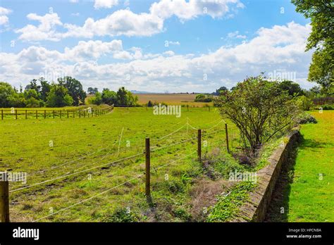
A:
[[[183,108],[180,118],[154,115],[151,108],[115,108],[96,118],[1,121],[0,170],[27,172],[26,184],[10,183],[11,220],[30,222],[47,215],[39,221],[189,220],[192,186],[209,171],[197,161],[197,130],[187,121],[209,129],[203,136],[204,158],[218,149],[215,156],[225,157],[224,124],[218,111],[207,108]],[[237,130],[228,125],[233,148]],[[151,168],[158,168],[151,170],[151,205],[144,196],[145,137],[151,139]],[[134,154],[139,155],[111,163]]]

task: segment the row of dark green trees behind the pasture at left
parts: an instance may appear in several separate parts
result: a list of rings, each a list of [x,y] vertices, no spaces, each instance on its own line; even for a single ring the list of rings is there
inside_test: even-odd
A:
[[[113,92],[103,89],[102,93],[98,89],[88,89],[88,102],[93,104],[107,103],[109,105],[132,106],[138,101],[137,96],[124,87]],[[44,77],[38,80],[33,79],[23,89],[12,87],[8,82],[0,82],[0,107],[63,107],[79,106],[85,104],[87,93],[82,89],[80,81],[73,77],[60,77],[57,82],[48,82]]]

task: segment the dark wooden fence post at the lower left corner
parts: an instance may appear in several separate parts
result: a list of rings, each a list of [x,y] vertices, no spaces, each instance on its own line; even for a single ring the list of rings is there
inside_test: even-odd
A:
[[[0,172],[0,216],[1,222],[9,222],[8,174]]]

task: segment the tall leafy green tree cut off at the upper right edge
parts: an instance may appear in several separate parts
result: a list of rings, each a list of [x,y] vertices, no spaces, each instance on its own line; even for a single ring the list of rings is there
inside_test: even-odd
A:
[[[309,67],[308,80],[321,84],[323,92],[334,92],[334,5],[333,0],[292,0],[296,11],[311,18],[311,34],[306,51],[316,49]]]

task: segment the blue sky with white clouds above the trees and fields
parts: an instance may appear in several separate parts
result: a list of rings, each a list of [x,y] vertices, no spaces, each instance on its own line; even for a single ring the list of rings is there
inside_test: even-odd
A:
[[[1,0],[0,81],[214,92],[265,73],[309,89],[309,23],[290,0]]]

